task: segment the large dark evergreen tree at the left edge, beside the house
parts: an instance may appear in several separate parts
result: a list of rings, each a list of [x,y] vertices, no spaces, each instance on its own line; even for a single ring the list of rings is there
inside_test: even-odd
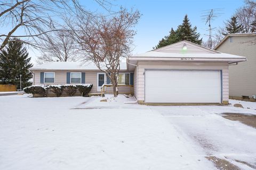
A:
[[[23,47],[19,39],[10,41],[0,54],[0,83],[14,84],[19,89],[21,75],[22,88],[30,86],[28,80],[32,78],[32,73],[28,69],[33,66],[30,59],[26,47]]]

